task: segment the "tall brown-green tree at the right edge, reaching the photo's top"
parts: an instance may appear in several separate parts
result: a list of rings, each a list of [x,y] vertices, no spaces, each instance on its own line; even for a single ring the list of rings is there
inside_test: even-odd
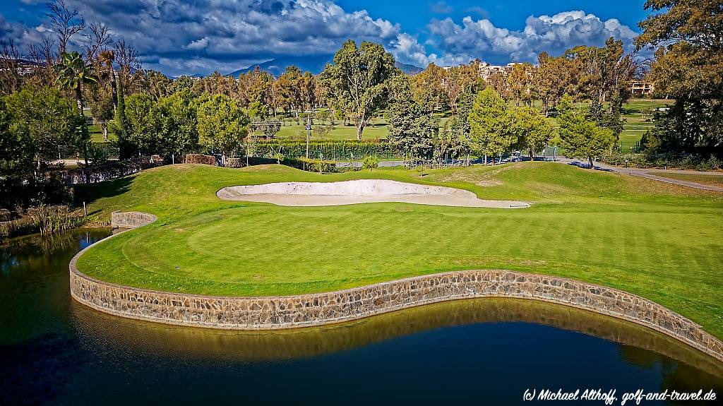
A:
[[[656,13],[639,24],[636,45],[657,48],[648,78],[676,100],[656,120],[660,149],[723,157],[720,1],[648,0],[645,8]]]

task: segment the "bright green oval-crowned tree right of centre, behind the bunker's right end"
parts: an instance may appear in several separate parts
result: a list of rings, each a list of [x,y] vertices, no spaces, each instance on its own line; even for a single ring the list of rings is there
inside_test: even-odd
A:
[[[492,87],[477,93],[469,113],[470,149],[487,155],[502,156],[515,142],[510,131],[507,103]]]

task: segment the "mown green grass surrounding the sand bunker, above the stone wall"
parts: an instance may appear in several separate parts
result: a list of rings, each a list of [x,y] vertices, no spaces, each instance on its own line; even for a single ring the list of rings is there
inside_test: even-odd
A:
[[[389,178],[536,202],[522,210],[401,203],[224,202],[224,186]],[[140,288],[288,295],[454,269],[571,277],[642,295],[723,337],[723,194],[559,163],[319,175],[279,165],[155,168],[78,191],[90,211],[158,215],[93,247],[82,272]]]

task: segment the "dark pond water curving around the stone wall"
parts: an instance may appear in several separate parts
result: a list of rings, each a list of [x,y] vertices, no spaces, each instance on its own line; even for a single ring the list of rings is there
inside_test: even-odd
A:
[[[723,363],[635,324],[534,301],[455,301],[283,332],[109,316],[70,298],[67,268],[108,234],[0,247],[0,405],[604,405],[523,402],[526,389],[616,389],[615,405],[637,389],[723,397]]]

